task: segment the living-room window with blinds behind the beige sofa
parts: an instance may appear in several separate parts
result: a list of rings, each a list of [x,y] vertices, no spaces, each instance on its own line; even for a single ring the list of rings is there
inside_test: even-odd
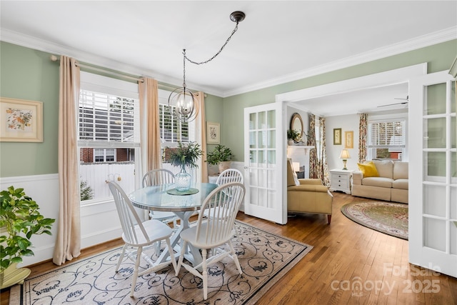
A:
[[[405,161],[406,119],[368,121],[368,160]]]

